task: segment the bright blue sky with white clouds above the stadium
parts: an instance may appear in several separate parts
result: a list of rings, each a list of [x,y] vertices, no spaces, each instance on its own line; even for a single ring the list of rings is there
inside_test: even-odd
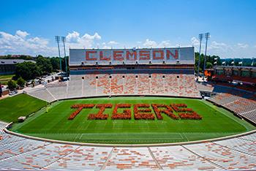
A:
[[[210,32],[208,53],[249,58],[256,57],[255,20],[253,0],[1,1],[0,55],[57,56],[55,35],[71,48],[197,50],[198,34]]]

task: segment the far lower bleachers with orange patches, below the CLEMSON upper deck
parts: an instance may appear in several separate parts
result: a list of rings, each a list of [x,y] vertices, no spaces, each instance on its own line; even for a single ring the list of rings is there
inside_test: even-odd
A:
[[[56,99],[116,95],[200,97],[193,75],[173,74],[71,75],[67,84],[48,85],[27,93],[47,102]]]

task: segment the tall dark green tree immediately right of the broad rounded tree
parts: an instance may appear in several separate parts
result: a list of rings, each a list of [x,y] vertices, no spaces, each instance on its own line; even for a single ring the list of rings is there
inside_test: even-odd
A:
[[[37,66],[39,66],[39,69],[41,69],[43,75],[50,74],[51,72],[53,72],[53,66],[50,63],[50,58],[45,58],[39,55],[36,61]]]

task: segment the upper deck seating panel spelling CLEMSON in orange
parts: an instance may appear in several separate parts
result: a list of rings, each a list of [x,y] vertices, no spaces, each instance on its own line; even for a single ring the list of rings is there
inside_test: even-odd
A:
[[[69,49],[69,66],[119,64],[195,64],[194,47]]]

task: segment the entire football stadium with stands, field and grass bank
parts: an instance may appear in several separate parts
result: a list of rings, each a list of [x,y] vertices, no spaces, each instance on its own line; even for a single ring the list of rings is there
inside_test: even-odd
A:
[[[255,67],[198,83],[194,47],[165,47],[69,49],[69,70],[0,101],[1,170],[256,169]]]

